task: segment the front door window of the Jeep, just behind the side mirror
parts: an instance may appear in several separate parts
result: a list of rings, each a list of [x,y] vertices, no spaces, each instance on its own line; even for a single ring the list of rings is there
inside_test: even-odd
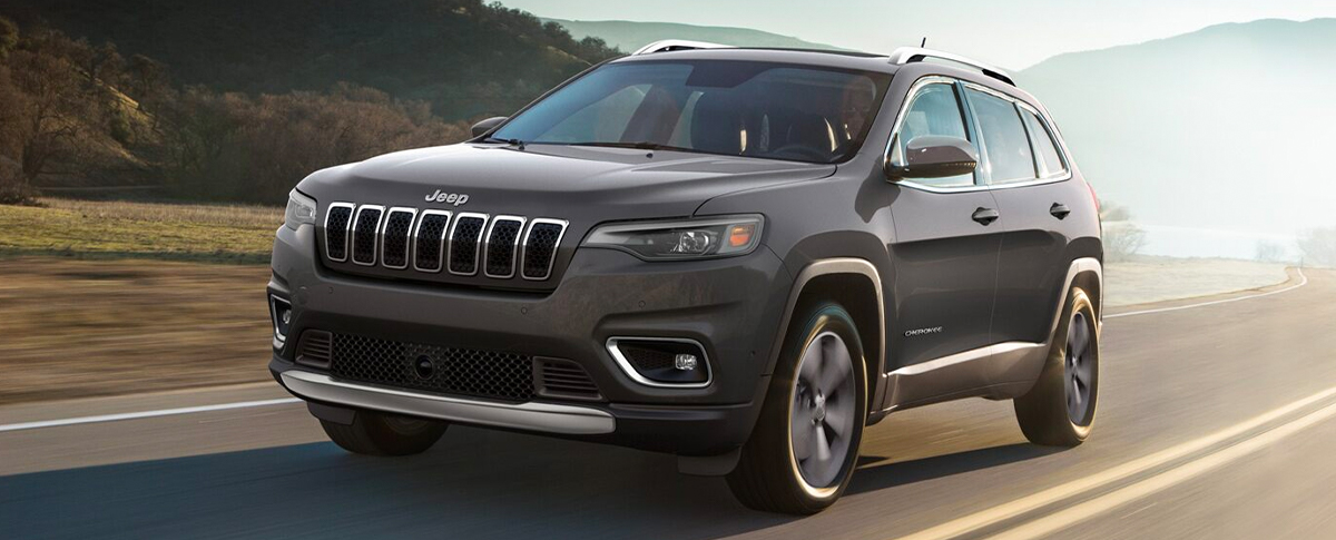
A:
[[[965,131],[965,115],[961,110],[961,100],[955,95],[955,86],[951,83],[934,83],[925,86],[910,102],[910,108],[904,111],[904,122],[891,144],[891,163],[904,162],[904,148],[910,140],[923,135],[954,136],[969,140]],[[947,178],[914,178],[914,183],[933,187],[963,187],[974,186],[974,175],[963,174]]]

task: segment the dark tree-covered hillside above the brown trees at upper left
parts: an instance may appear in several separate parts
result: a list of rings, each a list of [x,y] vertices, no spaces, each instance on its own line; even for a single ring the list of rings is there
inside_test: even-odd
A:
[[[461,119],[509,114],[616,51],[482,0],[28,0],[20,25],[146,55],[187,84],[286,94],[350,82]]]

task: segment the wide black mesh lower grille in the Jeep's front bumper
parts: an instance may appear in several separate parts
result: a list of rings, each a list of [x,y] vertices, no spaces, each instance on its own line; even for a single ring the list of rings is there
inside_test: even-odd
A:
[[[333,334],[330,374],[338,378],[444,394],[529,401],[534,396],[528,354],[410,344]],[[428,377],[417,364],[428,358]]]

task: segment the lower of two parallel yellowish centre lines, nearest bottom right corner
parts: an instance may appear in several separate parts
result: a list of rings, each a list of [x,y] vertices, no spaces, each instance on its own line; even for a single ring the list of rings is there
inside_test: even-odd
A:
[[[1307,416],[1224,450],[1178,465],[1177,468],[1165,470],[1125,488],[1120,488],[1112,493],[1081,503],[1075,507],[1026,523],[1021,527],[993,536],[991,540],[1029,540],[1051,535],[1100,513],[1182,484],[1232,461],[1237,461],[1261,450],[1263,448],[1267,448],[1271,444],[1279,442],[1281,438],[1300,433],[1305,428],[1327,420],[1333,414],[1336,414],[1336,405],[1327,405],[1316,412],[1308,413]]]

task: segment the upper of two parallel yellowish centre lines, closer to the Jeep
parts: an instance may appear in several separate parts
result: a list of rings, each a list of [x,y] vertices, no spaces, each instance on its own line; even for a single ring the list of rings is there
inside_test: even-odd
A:
[[[1133,475],[1153,469],[1156,466],[1168,464],[1174,460],[1181,460],[1184,457],[1192,456],[1193,453],[1205,450],[1210,446],[1228,441],[1230,438],[1238,437],[1253,429],[1261,428],[1272,421],[1276,421],[1287,414],[1303,409],[1304,406],[1312,405],[1317,401],[1325,400],[1331,396],[1336,396],[1336,386],[1328,388],[1323,392],[1305,397],[1303,400],[1295,401],[1289,405],[1272,409],[1264,414],[1252,417],[1242,422],[1234,424],[1229,428],[1221,429],[1218,432],[1206,434],[1200,438],[1194,438],[1188,442],[1178,444],[1177,446],[1170,446],[1168,449],[1156,452],[1150,456],[1140,457],[1128,461],[1122,465],[1117,465],[1112,469],[1105,469],[1098,473],[1086,476],[1083,479],[1073,480],[1066,484],[1055,485],[1033,493],[1010,503],[1003,503],[997,507],[971,513],[969,516],[958,517],[955,520],[943,523],[941,525],[919,531],[916,533],[903,536],[900,540],[938,540],[938,539],[953,539],[961,535],[977,532],[986,527],[995,525],[998,523],[1006,521],[1009,519],[1025,515],[1027,512],[1037,511],[1039,508],[1047,507],[1050,504],[1070,499],[1073,496],[1097,489],[1122,479],[1130,477]],[[1333,408],[1336,405],[1329,405]],[[1325,410],[1325,409],[1323,409]],[[1311,417],[1311,416],[1309,416]],[[1304,418],[1309,418],[1304,417]],[[1291,424],[1300,422],[1292,421]],[[1291,425],[1287,424],[1287,425]],[[1255,437],[1259,438],[1259,437]]]

